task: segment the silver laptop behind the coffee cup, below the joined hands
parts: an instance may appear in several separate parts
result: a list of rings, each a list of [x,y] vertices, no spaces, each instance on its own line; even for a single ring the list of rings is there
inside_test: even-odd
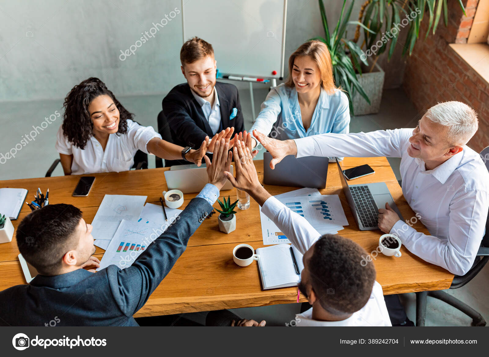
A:
[[[180,190],[183,193],[192,193],[192,192],[200,192],[209,182],[207,177],[207,171],[205,165],[196,168],[185,168],[187,165],[181,165],[183,167],[179,167],[179,165],[170,167],[170,170],[165,171],[165,180],[168,186],[168,190]],[[231,165],[231,174],[233,174],[233,166]],[[233,185],[229,180],[226,180],[226,183],[222,187],[221,190],[231,190]]]

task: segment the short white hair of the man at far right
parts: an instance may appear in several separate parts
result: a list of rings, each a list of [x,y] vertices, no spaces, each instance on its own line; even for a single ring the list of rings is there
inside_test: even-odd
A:
[[[438,103],[428,109],[425,116],[434,123],[448,126],[450,144],[465,145],[479,126],[477,113],[467,104],[455,100]]]

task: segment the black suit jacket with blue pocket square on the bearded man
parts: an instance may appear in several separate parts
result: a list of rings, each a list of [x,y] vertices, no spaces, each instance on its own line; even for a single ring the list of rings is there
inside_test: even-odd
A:
[[[238,89],[233,84],[216,82],[216,91],[221,109],[222,128],[234,126],[234,132],[244,131],[244,117],[241,111]],[[204,117],[199,102],[192,95],[188,83],[174,87],[161,103],[173,142],[181,146],[200,147],[205,137],[212,138],[214,133]],[[236,117],[229,119],[237,109]]]

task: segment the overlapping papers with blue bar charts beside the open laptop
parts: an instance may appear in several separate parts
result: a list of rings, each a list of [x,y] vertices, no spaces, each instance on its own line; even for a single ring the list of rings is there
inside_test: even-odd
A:
[[[327,233],[336,234],[339,230],[343,229],[343,226],[348,225],[348,220],[341,207],[339,197],[336,194],[321,195],[317,191],[317,193],[311,192],[309,195],[291,196],[289,194],[286,197],[283,195],[277,195],[275,197],[291,211],[306,218],[311,223],[311,226],[322,235]],[[289,239],[280,231],[275,223],[261,212],[261,207],[260,218],[262,222],[263,244],[290,243]]]

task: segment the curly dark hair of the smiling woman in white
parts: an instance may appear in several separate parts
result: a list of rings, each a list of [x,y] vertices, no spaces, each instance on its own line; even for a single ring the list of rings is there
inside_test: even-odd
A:
[[[133,119],[134,114],[129,113],[126,108],[115,98],[111,91],[100,79],[90,77],[73,87],[65,98],[63,107],[63,133],[68,140],[82,150],[93,135],[93,122],[90,119],[89,104],[99,95],[109,95],[119,110],[119,129],[117,135],[127,133],[127,119]]]

